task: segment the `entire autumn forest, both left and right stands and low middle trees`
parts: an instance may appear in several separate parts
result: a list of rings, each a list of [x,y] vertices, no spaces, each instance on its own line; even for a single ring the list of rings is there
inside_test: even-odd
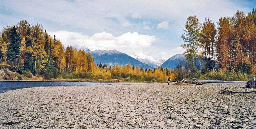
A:
[[[176,68],[144,69],[134,65],[95,64],[90,53],[64,48],[39,23],[22,20],[7,25],[0,36],[0,69],[5,80],[76,79],[94,81],[166,82],[181,78],[246,81],[256,73],[256,10],[220,17],[213,23],[188,17],[181,36],[185,61]],[[199,63],[196,63],[199,62]],[[16,74],[10,74],[10,71]]]

